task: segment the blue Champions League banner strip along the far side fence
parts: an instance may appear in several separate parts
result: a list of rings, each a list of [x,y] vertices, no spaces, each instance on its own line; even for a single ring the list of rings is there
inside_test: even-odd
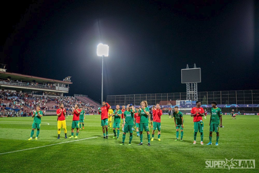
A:
[[[149,105],[148,108],[152,108],[153,105]],[[174,108],[175,106],[178,106],[179,108],[193,108],[196,105],[160,105],[160,107],[163,108]],[[111,106],[112,109],[115,109],[116,106]],[[135,105],[135,108],[140,107],[139,105]],[[210,104],[203,104],[201,105],[202,108],[211,108]],[[259,108],[259,104],[218,104],[217,107],[219,108]],[[121,108],[121,106],[120,106]]]

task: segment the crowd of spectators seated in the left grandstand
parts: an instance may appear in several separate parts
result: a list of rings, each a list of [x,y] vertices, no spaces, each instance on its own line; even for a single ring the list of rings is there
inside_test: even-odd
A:
[[[58,109],[60,103],[64,104],[69,115],[72,114],[72,107],[75,107],[75,104],[82,107],[86,114],[97,113],[97,110],[94,109],[94,105],[83,103],[75,97],[43,96],[2,90],[0,91],[0,117],[31,116],[32,110],[35,110],[37,105],[40,105],[41,110],[45,114],[45,111]],[[50,104],[52,106],[48,107],[47,105]],[[5,108],[19,109],[20,111],[7,111]]]

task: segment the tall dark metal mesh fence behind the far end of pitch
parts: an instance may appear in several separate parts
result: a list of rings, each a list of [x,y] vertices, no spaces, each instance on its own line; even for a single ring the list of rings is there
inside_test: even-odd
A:
[[[146,100],[148,105],[155,105],[160,101],[186,100],[186,92],[113,95],[107,96],[106,100],[113,106],[128,103],[140,105],[140,102],[143,100]],[[216,101],[218,104],[259,104],[259,90],[198,92],[198,100],[201,101],[202,104],[210,104],[212,101]],[[254,111],[256,109],[258,108],[242,108],[242,110],[247,111]]]

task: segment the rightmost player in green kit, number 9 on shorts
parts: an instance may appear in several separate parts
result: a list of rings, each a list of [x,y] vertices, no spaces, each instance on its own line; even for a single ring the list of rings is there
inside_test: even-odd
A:
[[[219,127],[222,127],[222,112],[221,109],[217,107],[217,102],[211,102],[211,118],[210,118],[210,142],[207,145],[212,145],[212,132],[217,133],[216,145],[219,145]],[[219,124],[220,121],[220,124]]]

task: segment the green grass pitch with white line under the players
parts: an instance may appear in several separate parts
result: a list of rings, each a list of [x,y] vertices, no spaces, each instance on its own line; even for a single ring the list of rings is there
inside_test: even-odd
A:
[[[197,144],[193,145],[193,118],[184,115],[183,141],[176,139],[174,118],[168,115],[161,117],[161,139],[157,141],[157,131],[151,147],[147,146],[147,134],[143,132],[143,145],[136,132],[133,132],[132,145],[128,145],[129,134],[126,134],[125,145],[122,134],[119,140],[113,139],[113,130],[109,129],[109,138],[103,139],[99,115],[85,116],[85,129],[80,130],[76,141],[64,139],[61,129],[57,139],[56,116],[44,116],[38,140],[30,138],[31,117],[0,118],[0,153],[28,148],[57,144],[37,149],[1,154],[0,172],[215,172],[228,169],[204,169],[205,159],[255,159],[256,169],[230,169],[231,172],[258,172],[258,128],[259,116],[239,115],[236,120],[223,116],[224,128],[220,128],[219,145],[215,146],[216,133],[213,132],[212,145],[209,142],[210,115],[204,119],[204,145],[200,145],[200,134]],[[71,136],[72,116],[66,118],[67,136]],[[49,125],[47,125],[49,123]],[[150,129],[151,125],[150,125]],[[117,130],[116,130],[117,132]],[[122,127],[120,129],[122,132]],[[75,136],[76,132],[74,132]],[[150,138],[152,131],[150,131]],[[179,132],[179,137],[181,132]]]

